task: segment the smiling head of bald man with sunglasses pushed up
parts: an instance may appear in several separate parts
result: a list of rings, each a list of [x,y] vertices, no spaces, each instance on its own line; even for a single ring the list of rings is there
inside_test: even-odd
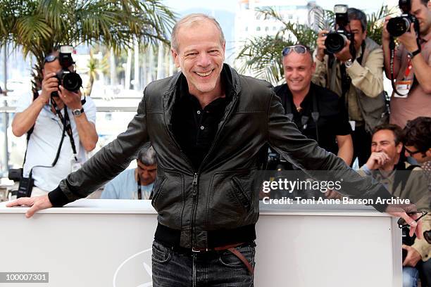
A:
[[[283,57],[283,69],[285,70],[287,87],[292,91],[292,94],[308,92],[311,77],[316,69],[316,64],[313,63],[309,53],[290,52]]]

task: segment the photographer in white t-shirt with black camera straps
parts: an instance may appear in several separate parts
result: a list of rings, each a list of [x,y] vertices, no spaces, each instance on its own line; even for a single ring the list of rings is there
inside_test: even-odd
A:
[[[92,99],[87,97],[82,104],[79,89],[68,91],[59,84],[56,75],[64,68],[60,56],[54,51],[44,58],[42,91],[19,99],[12,122],[15,136],[27,133],[23,177],[32,175],[33,196],[55,189],[61,179],[85,161],[85,152],[92,151],[98,139]],[[72,71],[71,56],[69,62],[66,68]]]

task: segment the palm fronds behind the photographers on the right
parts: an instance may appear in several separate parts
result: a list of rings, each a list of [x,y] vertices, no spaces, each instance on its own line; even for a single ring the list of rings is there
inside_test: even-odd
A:
[[[316,48],[318,31],[308,25],[290,23],[285,21],[273,8],[258,9],[266,18],[274,18],[283,24],[275,36],[254,37],[246,39],[242,50],[237,56],[241,72],[251,71],[253,76],[266,79],[268,82],[278,84],[283,79],[281,51],[285,46],[297,43],[304,44],[311,49]],[[377,13],[368,18],[368,37],[381,44],[383,22],[386,15],[394,13],[394,8],[382,6]],[[334,26],[335,14],[332,11],[321,11],[318,21],[319,30],[330,30]]]

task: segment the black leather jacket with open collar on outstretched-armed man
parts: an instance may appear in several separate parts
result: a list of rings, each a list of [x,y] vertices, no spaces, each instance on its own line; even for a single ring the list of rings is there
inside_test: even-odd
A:
[[[54,206],[87,196],[129,165],[151,141],[157,153],[157,179],[152,204],[158,222],[181,230],[180,245],[206,248],[208,231],[256,223],[258,195],[254,186],[258,152],[270,144],[304,170],[340,170],[349,196],[390,198],[382,186],[350,170],[316,141],[289,122],[273,87],[230,70],[232,101],[227,104],[213,144],[199,170],[175,141],[171,117],[181,73],[149,84],[127,131],[101,149],[85,165],[49,193]],[[226,69],[223,69],[226,70]],[[385,207],[382,207],[385,208]]]

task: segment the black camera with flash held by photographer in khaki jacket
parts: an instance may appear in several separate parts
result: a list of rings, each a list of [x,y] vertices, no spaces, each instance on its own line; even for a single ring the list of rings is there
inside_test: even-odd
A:
[[[349,24],[347,15],[347,5],[335,5],[335,32],[327,34],[325,47],[327,53],[338,53],[346,46],[346,40],[351,39],[352,34],[346,31],[346,25]]]

